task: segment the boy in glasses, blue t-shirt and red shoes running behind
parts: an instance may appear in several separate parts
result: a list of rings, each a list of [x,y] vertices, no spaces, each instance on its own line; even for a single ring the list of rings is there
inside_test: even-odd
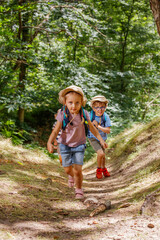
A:
[[[110,133],[111,122],[110,118],[105,110],[108,105],[108,100],[101,95],[95,96],[91,99],[92,110],[90,112],[90,120],[94,126],[98,129],[101,137],[104,141],[107,139],[107,134]],[[110,177],[110,173],[105,167],[105,149],[101,142],[89,131],[88,139],[97,152],[97,170],[96,177],[101,179],[104,177]]]

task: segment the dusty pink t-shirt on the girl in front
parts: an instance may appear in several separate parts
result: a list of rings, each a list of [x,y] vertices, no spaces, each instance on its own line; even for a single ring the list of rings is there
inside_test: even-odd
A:
[[[88,121],[89,113],[86,110],[84,111]],[[59,111],[56,119],[62,123],[63,111]],[[86,143],[85,127],[84,127],[84,123],[82,123],[79,113],[76,116],[70,113],[69,121],[71,121],[72,119],[73,119],[72,121],[73,125],[71,125],[70,123],[67,124],[66,129],[62,130],[62,133],[58,139],[58,142],[64,145],[67,145],[69,147],[77,147],[81,144]]]

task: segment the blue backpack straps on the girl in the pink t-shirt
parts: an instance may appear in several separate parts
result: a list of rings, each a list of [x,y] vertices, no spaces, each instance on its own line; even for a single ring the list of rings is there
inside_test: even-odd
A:
[[[61,108],[61,111],[63,111],[63,122],[62,122],[62,129],[65,130],[66,127],[67,127],[67,124],[70,122],[69,121],[69,110],[66,106],[63,106]],[[80,109],[80,116],[81,116],[81,120],[83,121],[84,123],[84,127],[85,127],[85,134],[87,136],[88,134],[88,121],[87,121],[87,118],[86,118],[86,115],[85,115],[85,112],[84,112],[84,109],[83,107]],[[73,125],[73,123],[71,122],[70,123],[71,125]]]

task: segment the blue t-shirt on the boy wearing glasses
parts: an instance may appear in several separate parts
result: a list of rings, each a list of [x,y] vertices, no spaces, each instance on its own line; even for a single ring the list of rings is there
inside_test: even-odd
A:
[[[105,114],[105,122],[101,122],[101,126],[102,127],[111,127],[111,121],[110,121],[110,118],[108,116],[107,113],[104,113]],[[90,119],[91,119],[91,113],[90,113]],[[99,117],[99,116],[96,116],[95,115],[95,119],[98,123],[102,120],[102,116]],[[92,120],[93,121],[93,120]],[[100,133],[101,137],[103,138],[103,140],[106,140],[107,139],[107,133],[104,133],[102,132],[101,130],[98,129],[98,132]],[[91,131],[88,132],[88,138],[95,138],[97,139],[92,133]],[[98,140],[98,139],[97,139]],[[98,140],[99,141],[99,140]]]

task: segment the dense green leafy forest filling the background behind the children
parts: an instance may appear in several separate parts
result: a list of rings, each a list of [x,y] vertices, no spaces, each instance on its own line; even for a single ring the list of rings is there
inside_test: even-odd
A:
[[[8,120],[55,113],[58,92],[71,84],[88,101],[109,100],[117,131],[159,114],[160,37],[149,1],[1,3],[1,131]]]

